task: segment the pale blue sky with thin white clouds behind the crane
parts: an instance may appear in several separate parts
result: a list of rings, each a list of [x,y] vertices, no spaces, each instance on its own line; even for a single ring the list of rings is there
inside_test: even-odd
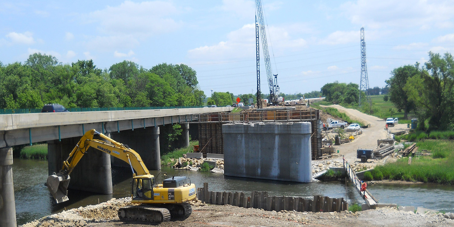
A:
[[[369,86],[383,87],[400,66],[424,64],[429,51],[454,49],[454,1],[262,0],[273,74],[285,94],[320,91],[326,83],[360,84],[360,28],[365,30]],[[99,69],[123,60],[150,69],[187,64],[199,87],[257,92],[255,1],[0,2],[0,62],[30,54]],[[269,93],[260,43],[262,93]]]

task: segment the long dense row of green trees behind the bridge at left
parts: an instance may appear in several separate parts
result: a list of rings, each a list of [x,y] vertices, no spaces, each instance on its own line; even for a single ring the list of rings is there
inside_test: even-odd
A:
[[[99,69],[93,60],[61,64],[35,53],[24,64],[0,62],[0,108],[201,106],[197,74],[185,64],[145,69],[131,61]]]

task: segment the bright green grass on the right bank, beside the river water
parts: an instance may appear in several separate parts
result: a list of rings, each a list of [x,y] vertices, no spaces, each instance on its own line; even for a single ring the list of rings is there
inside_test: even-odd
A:
[[[374,170],[390,180],[454,185],[454,141],[426,139],[416,146],[419,151],[427,150],[432,155],[412,158],[411,165],[408,158],[402,158]]]

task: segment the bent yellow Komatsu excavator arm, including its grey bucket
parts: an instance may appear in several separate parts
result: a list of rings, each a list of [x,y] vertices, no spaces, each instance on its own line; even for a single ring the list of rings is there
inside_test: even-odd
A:
[[[107,142],[94,139],[94,134],[99,134],[99,136]],[[80,138],[79,143],[77,143],[71,153],[69,153],[69,157],[63,161],[63,167],[59,173],[54,173],[47,178],[47,188],[49,188],[49,192],[57,203],[68,200],[69,174],[90,147],[108,153],[115,158],[119,158],[128,163],[133,171],[133,176],[150,174],[148,168],[143,163],[142,158],[140,158],[140,155],[129,148],[128,145],[118,143],[103,133],[91,129]]]

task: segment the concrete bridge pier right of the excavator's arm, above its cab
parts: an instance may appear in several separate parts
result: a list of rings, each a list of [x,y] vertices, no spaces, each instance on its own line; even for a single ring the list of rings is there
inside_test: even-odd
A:
[[[113,132],[112,139],[118,143],[127,144],[131,149],[140,154],[143,163],[145,163],[145,166],[149,170],[161,169],[159,127],[134,128],[134,130],[124,130],[120,133]],[[118,161],[123,162],[114,160],[115,165]]]

